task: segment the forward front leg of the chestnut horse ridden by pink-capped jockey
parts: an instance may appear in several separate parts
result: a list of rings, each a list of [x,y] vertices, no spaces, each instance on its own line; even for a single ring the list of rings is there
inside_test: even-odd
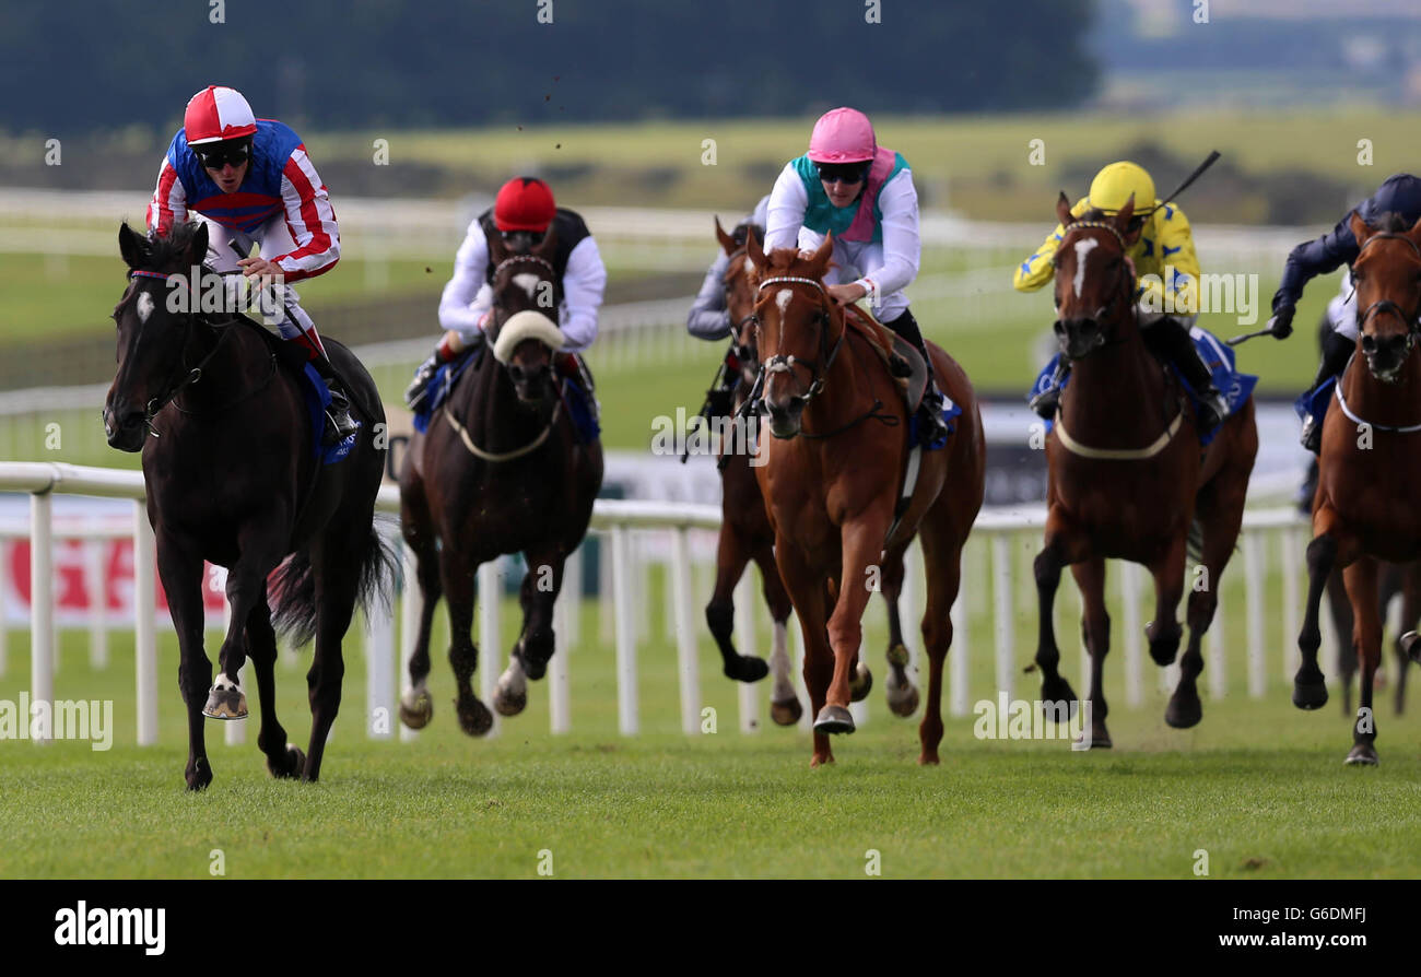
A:
[[[823,733],[853,733],[854,719],[848,714],[853,696],[851,679],[858,660],[858,646],[864,636],[864,608],[882,577],[882,545],[892,514],[888,506],[878,506],[844,524],[841,531],[843,561],[840,564],[838,598],[828,618],[828,645],[834,652],[834,677],[828,683],[824,707],[814,719],[814,730]]]

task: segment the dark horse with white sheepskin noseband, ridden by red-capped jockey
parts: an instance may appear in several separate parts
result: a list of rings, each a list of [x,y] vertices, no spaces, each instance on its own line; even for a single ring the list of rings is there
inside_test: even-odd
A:
[[[563,588],[563,564],[583,541],[603,484],[601,442],[578,442],[556,376],[557,354],[550,344],[560,345],[561,334],[556,310],[547,304],[557,294],[556,247],[551,231],[527,254],[512,253],[497,236],[489,239],[493,311],[479,361],[465,371],[428,432],[411,436],[405,453],[401,528],[415,554],[423,595],[411,686],[399,703],[401,720],[411,728],[422,728],[433,716],[426,686],[429,629],[441,596],[449,604],[459,727],[483,736],[493,726],[470,684],[479,665],[472,639],[479,565],[512,552],[527,561],[523,626],[493,700],[499,714],[523,711],[526,680],[541,679],[553,656],[553,605]],[[504,346],[506,354],[497,352]],[[499,598],[483,595],[490,606]]]

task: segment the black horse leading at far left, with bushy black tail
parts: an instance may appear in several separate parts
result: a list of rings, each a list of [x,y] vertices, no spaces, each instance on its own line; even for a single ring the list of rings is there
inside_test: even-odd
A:
[[[368,609],[385,598],[388,606],[395,567],[374,528],[384,470],[379,393],[360,361],[327,337],[362,430],[345,457],[321,464],[320,430],[313,432],[303,381],[277,366],[287,344],[270,339],[256,324],[198,312],[198,295],[190,295],[192,311],[169,305],[173,287],[188,288],[189,268],[206,258],[207,226],[183,223],[166,237],[144,237],[124,224],[118,244],[129,283],[114,310],[118,372],[104,426],[112,447],[144,454],[158,574],[182,652],[183,777],[189,790],[212,784],[203,716],[246,716],[237,673],[250,656],[261,702],[257,746],[267,770],[273,777],[314,781],[341,704],[341,639],[357,604]],[[209,275],[205,270],[203,281]],[[203,650],[205,560],[227,568],[232,608],[216,683]],[[304,754],[286,741],[276,716],[277,629],[297,643],[315,638],[306,676],[311,740]]]

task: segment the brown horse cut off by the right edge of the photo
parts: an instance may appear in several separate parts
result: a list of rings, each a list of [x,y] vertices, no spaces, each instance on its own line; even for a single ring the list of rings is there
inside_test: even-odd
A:
[[[1378,561],[1421,557],[1421,514],[1411,496],[1421,476],[1421,454],[1411,436],[1421,432],[1421,358],[1411,355],[1421,315],[1421,220],[1410,229],[1394,219],[1373,229],[1354,213],[1351,233],[1360,249],[1351,270],[1363,311],[1357,354],[1337,381],[1337,403],[1323,423],[1313,541],[1307,545],[1307,609],[1297,636],[1303,663],[1293,679],[1293,704],[1319,709],[1327,702],[1317,667],[1317,609],[1329,574],[1340,567],[1351,599],[1353,649],[1361,665],[1347,763],[1370,765],[1377,763],[1371,693],[1381,662]],[[1414,635],[1403,643],[1415,657]]]

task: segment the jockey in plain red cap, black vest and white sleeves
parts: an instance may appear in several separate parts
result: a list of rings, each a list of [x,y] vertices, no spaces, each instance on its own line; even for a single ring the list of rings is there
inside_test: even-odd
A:
[[[435,352],[415,371],[405,402],[415,410],[425,398],[439,364],[452,361],[483,342],[483,322],[493,308],[493,261],[489,239],[499,236],[514,254],[527,254],[553,230],[557,250],[551,264],[561,293],[558,328],[567,339],[561,351],[576,354],[597,338],[597,312],[607,287],[607,268],[597,241],[583,219],[553,200],[553,190],[536,176],[516,176],[499,190],[493,206],[469,224],[453,260],[453,278],[439,300],[439,325],[445,335]]]

